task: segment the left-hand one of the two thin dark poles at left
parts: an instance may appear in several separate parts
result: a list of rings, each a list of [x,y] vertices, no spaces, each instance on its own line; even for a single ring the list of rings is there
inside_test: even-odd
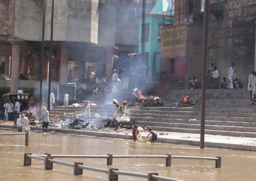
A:
[[[40,92],[39,92],[39,112],[42,112],[42,84],[43,84],[43,66],[44,66],[44,41],[45,41],[45,0],[43,1],[43,20],[42,20],[42,41],[41,41],[41,62],[40,62]]]

